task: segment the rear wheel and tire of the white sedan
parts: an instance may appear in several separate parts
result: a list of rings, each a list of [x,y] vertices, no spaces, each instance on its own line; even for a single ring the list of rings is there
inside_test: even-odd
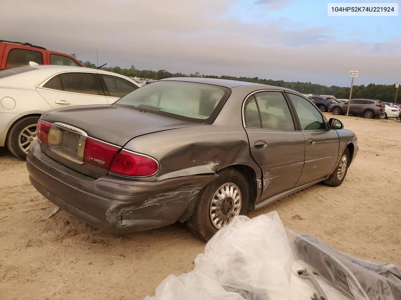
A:
[[[7,134],[6,145],[14,156],[22,160],[26,159],[31,142],[36,138],[36,124],[38,120],[39,117],[35,116],[20,118],[11,126]],[[26,144],[20,147],[20,142],[21,144]]]

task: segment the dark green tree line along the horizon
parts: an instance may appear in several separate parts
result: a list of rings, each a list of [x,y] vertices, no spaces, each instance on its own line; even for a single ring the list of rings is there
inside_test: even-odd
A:
[[[71,54],[76,57],[75,54]],[[97,68],[95,64],[89,61],[81,61],[80,62],[87,68]],[[139,77],[139,78],[148,78],[159,80],[163,78],[170,77],[205,77],[205,78],[220,78],[220,79],[229,79],[229,80],[240,80],[247,82],[255,82],[260,84],[268,84],[271,86],[280,86],[283,88],[290,88],[292,90],[296,90],[302,94],[318,94],[318,95],[333,95],[339,99],[348,99],[350,94],[350,88],[341,87],[341,86],[324,86],[321,84],[314,84],[312,82],[286,82],[284,80],[272,80],[272,79],[262,79],[258,77],[235,77],[235,76],[216,76],[216,75],[205,75],[200,74],[199,72],[191,73],[189,75],[182,73],[170,73],[166,70],[138,70],[135,66],[131,66],[131,68],[120,68],[118,66],[115,67],[103,67],[103,70],[107,70],[110,72],[114,72],[117,74],[130,76],[130,77]],[[353,86],[352,88],[352,98],[365,98],[365,99],[375,99],[381,100],[383,102],[394,102],[395,101],[395,86],[392,85],[384,85],[384,84],[368,84],[367,86],[361,84],[358,86]],[[401,94],[401,93],[400,93]],[[397,97],[397,102],[401,102],[399,97]]]

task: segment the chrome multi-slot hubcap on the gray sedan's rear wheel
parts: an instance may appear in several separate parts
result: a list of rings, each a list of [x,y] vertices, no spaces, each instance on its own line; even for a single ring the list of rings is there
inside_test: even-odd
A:
[[[242,197],[238,186],[225,183],[217,189],[210,204],[210,220],[221,229],[227,226],[241,211]]]

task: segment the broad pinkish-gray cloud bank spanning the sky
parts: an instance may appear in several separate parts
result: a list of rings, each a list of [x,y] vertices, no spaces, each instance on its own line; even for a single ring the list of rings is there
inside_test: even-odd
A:
[[[270,4],[274,4],[274,0]],[[2,4],[0,36],[76,53],[83,60],[172,72],[348,83],[399,81],[401,39],[339,42],[326,28],[285,31],[223,18],[237,0],[47,0]],[[269,4],[267,4],[269,5]],[[21,7],[23,9],[21,9]],[[364,81],[364,78],[367,81]]]

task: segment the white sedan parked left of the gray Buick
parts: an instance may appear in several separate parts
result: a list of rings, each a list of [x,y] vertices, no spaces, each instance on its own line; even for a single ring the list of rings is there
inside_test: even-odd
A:
[[[111,104],[140,88],[126,76],[70,66],[0,71],[0,147],[25,159],[41,114],[64,106]]]

